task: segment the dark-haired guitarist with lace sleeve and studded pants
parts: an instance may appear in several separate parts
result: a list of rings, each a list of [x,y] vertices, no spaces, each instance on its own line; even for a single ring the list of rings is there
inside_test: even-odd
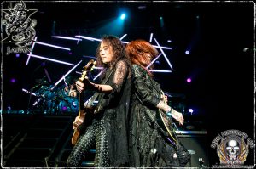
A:
[[[127,166],[128,163],[129,61],[125,59],[122,42],[114,36],[102,37],[96,56],[97,66],[103,67],[101,84],[90,82],[85,77],[76,82],[76,87],[79,93],[84,90],[96,91],[98,104],[92,111],[91,125],[87,125],[84,132],[79,133],[78,140],[73,142],[75,145],[67,159],[67,167],[81,166],[84,157],[94,146],[94,166],[118,167]],[[75,130],[78,122],[73,123]]]

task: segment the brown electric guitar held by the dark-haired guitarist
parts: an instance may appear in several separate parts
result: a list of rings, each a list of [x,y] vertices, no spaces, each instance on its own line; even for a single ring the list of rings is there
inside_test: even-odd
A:
[[[93,70],[94,66],[96,65],[96,61],[94,61],[93,59],[91,59],[84,67],[83,67],[83,72],[82,72],[82,76],[79,78],[80,82],[83,82],[85,78],[87,77],[87,74],[89,71]],[[74,145],[77,143],[78,138],[80,136],[80,128],[82,126],[82,124],[85,121],[85,116],[90,113],[90,108],[87,108],[87,112],[85,112],[85,108],[84,108],[84,92],[83,93],[79,93],[79,116],[77,116],[76,121],[73,122],[73,126],[74,126],[74,132],[73,132],[73,137],[71,139],[71,143]]]

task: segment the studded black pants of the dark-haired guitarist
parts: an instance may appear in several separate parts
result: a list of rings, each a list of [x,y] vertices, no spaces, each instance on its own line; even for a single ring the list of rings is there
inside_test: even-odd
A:
[[[89,150],[96,144],[96,156],[94,166],[108,167],[110,164],[108,155],[108,141],[106,130],[103,127],[103,120],[94,121],[81,135],[77,144],[67,158],[67,167],[79,167]]]

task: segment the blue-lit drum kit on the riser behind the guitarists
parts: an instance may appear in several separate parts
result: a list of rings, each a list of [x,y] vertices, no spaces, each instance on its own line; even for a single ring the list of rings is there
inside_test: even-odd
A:
[[[37,99],[32,103],[32,110],[44,112],[44,114],[68,114],[77,113],[79,103],[73,84],[51,88],[52,85],[44,79],[36,79],[38,83],[34,93]]]

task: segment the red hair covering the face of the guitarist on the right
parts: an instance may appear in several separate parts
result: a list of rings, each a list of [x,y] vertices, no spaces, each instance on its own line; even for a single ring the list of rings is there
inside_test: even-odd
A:
[[[131,60],[131,64],[142,66],[149,76],[153,76],[147,66],[159,53],[149,42],[141,39],[131,41],[125,47],[125,54]],[[150,68],[153,66],[151,65]]]

